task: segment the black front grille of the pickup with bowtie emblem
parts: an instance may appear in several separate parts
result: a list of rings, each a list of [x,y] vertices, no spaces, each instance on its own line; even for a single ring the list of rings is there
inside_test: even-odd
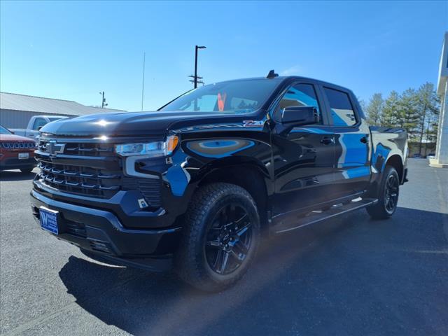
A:
[[[39,140],[36,160],[38,179],[64,193],[111,198],[119,190],[137,190],[149,207],[161,202],[161,179],[124,176],[122,159],[113,144]]]

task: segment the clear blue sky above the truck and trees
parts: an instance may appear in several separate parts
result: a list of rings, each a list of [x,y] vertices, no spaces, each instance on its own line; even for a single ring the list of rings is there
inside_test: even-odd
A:
[[[0,90],[140,111],[192,87],[269,69],[361,99],[436,83],[447,1],[0,3]]]

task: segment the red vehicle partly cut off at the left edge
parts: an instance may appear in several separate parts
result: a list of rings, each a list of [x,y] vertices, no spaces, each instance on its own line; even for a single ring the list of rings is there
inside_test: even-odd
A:
[[[13,134],[0,125],[0,170],[20,169],[29,173],[36,167],[34,150],[36,143],[25,137]]]

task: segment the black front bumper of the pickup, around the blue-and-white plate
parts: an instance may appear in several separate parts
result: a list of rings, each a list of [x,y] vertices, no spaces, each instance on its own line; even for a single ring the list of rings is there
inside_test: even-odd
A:
[[[127,229],[110,211],[82,207],[52,200],[31,190],[31,210],[39,221],[39,208],[58,211],[58,239],[68,241],[83,251],[102,255],[125,265],[164,269],[176,250],[181,228],[161,230]],[[155,262],[151,262],[155,260]],[[167,263],[162,262],[167,260]],[[154,266],[156,265],[156,266]]]

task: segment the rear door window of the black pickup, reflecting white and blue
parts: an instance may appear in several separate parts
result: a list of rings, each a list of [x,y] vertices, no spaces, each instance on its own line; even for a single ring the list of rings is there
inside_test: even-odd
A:
[[[349,95],[345,92],[333,90],[324,87],[323,90],[327,95],[330,103],[332,125],[336,126],[352,126],[356,124],[355,112],[351,106]]]

